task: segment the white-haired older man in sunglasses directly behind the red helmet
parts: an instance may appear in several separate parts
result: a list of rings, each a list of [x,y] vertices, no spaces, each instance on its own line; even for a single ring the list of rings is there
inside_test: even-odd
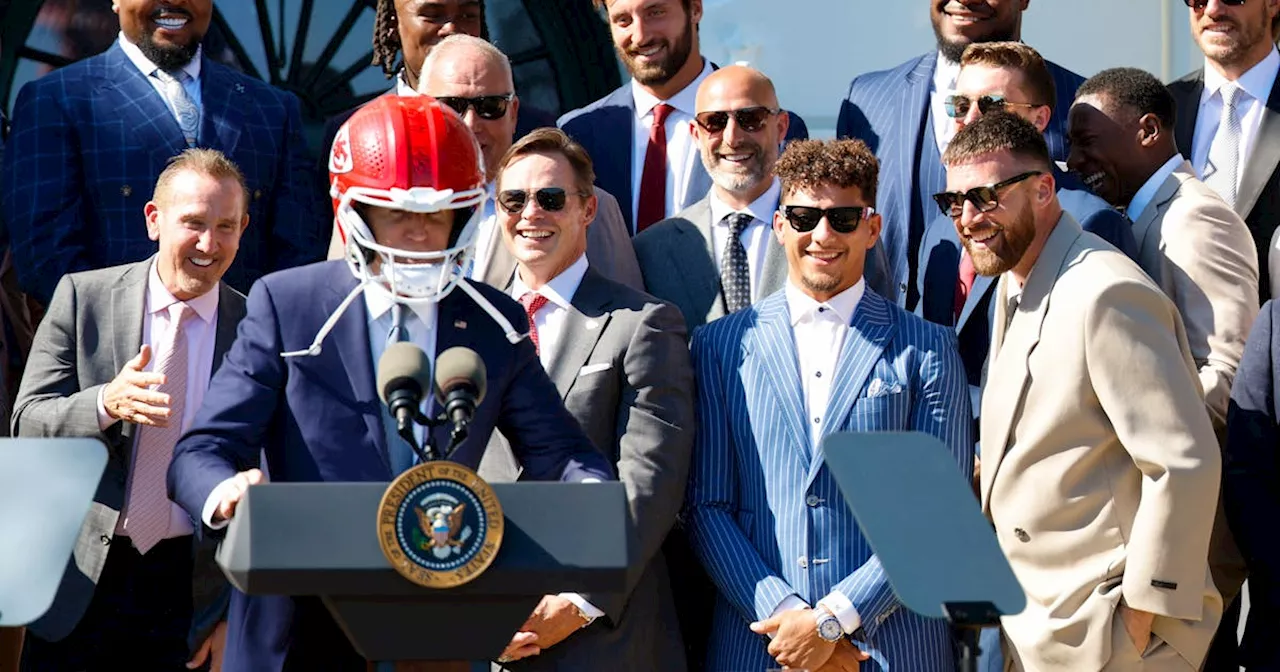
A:
[[[502,157],[518,136],[520,97],[515,93],[511,61],[498,47],[479,37],[452,35],[440,40],[426,58],[419,92],[458,113],[480,143],[490,197],[480,214],[475,260],[467,276],[493,287],[507,287],[516,273],[516,259],[502,244],[493,193]],[[588,256],[605,278],[640,289],[644,284],[640,266],[618,201],[600,188],[594,189],[594,196],[598,207],[586,229]]]

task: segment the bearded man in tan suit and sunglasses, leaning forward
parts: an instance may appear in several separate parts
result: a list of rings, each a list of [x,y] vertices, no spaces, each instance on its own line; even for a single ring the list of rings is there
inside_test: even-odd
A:
[[[1037,672],[1197,669],[1221,457],[1178,308],[1057,202],[1043,136],[1009,114],[943,155],[950,209],[1001,275],[983,392],[982,507],[1027,590],[1002,621]]]

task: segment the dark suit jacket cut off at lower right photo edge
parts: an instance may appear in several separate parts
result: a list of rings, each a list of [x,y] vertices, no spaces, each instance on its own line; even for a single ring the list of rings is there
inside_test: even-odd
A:
[[[1253,323],[1231,385],[1222,452],[1222,506],[1249,568],[1249,618],[1239,663],[1280,669],[1280,303]]]

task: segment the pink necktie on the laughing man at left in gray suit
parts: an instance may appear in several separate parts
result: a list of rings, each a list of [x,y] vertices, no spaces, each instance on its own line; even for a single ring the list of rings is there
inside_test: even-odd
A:
[[[173,503],[165,492],[165,474],[173,458],[173,447],[182,436],[182,413],[187,397],[186,326],[193,314],[191,306],[182,302],[169,306],[169,333],[163,342],[152,346],[156,362],[151,370],[165,376],[165,383],[156,390],[169,394],[169,426],[138,428],[124,522],[124,531],[133,539],[138,553],[151,550],[151,547],[169,535]]]

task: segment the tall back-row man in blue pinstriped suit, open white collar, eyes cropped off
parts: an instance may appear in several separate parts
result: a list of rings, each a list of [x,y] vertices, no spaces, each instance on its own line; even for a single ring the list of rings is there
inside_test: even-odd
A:
[[[1023,13],[1030,5],[1030,0],[927,1],[938,49],[855,77],[836,123],[836,137],[865,140],[883,166],[881,189],[893,195],[882,207],[882,244],[897,292],[891,298],[908,310],[919,301],[920,239],[934,211],[929,196],[946,186],[941,156],[955,124],[943,101],[955,88],[960,58],[973,44],[1021,40]],[[1057,64],[1046,65],[1060,104],[1044,136],[1053,157],[1065,160],[1068,104],[1084,78]]]

